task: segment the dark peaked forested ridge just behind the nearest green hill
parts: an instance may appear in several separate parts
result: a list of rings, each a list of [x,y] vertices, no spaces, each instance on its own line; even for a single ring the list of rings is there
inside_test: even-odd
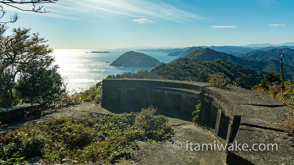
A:
[[[192,53],[181,58],[201,59],[207,61],[213,61],[215,59],[225,59],[236,64],[250,67],[256,71],[274,72],[275,74],[280,74],[280,69],[278,69],[278,67],[280,67],[278,59],[270,59],[268,61],[249,60],[236,57],[234,55],[230,55],[224,52],[218,52],[210,48],[206,48],[201,51],[195,50]],[[175,59],[171,63],[176,62],[177,60],[178,59]],[[285,73],[290,73],[286,74],[285,77],[294,80],[294,66],[289,64],[284,64],[283,66],[285,67]]]

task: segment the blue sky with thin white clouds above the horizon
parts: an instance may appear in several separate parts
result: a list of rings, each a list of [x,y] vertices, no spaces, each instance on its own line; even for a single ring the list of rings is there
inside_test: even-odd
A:
[[[49,13],[0,5],[1,22],[17,12],[10,28],[31,28],[54,49],[294,42],[294,0],[59,0],[44,4]]]

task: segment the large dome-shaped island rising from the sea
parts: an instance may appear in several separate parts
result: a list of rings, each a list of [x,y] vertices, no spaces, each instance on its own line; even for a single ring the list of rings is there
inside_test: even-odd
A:
[[[116,67],[157,67],[163,62],[139,52],[125,52],[110,65]]]

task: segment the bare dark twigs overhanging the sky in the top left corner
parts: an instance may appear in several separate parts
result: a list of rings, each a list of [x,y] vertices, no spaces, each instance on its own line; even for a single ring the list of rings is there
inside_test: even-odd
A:
[[[13,8],[17,8],[19,10],[22,11],[33,11],[36,13],[47,13],[49,11],[46,11],[46,9],[44,8],[44,11],[42,11],[43,6],[36,6],[36,4],[49,4],[49,3],[56,3],[58,0],[1,0],[0,4],[4,4],[7,6],[11,6]],[[31,9],[27,9],[27,8],[22,8],[19,7],[19,4],[32,4],[33,8]],[[3,8],[3,6],[0,5],[0,19],[5,15],[5,10]],[[9,23],[9,22],[16,22],[16,20],[19,18],[19,16],[17,16],[17,13],[14,13],[12,16],[10,16],[10,21],[6,21],[6,22],[0,22],[0,23]]]

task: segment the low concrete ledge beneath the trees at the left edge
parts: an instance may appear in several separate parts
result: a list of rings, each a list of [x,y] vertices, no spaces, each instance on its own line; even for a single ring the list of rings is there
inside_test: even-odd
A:
[[[0,122],[3,125],[23,119],[25,115],[24,111],[33,110],[34,108],[37,108],[39,106],[40,104],[38,103],[29,103],[2,108],[0,109]]]

